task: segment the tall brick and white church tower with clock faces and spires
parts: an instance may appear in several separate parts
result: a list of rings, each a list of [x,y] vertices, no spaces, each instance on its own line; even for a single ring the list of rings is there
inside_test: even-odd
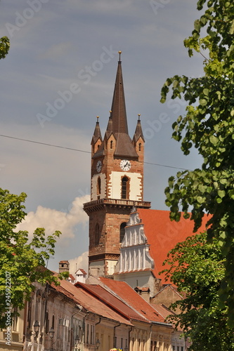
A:
[[[145,140],[141,119],[138,114],[131,140],[120,54],[104,138],[97,117],[91,140],[91,201],[84,204],[89,215],[89,274],[102,277],[114,272],[131,208],[150,208],[150,202],[143,201]]]

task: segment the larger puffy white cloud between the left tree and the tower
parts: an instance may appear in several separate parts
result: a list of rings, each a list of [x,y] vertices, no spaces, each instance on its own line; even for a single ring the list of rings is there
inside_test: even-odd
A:
[[[83,204],[87,201],[90,201],[89,195],[76,197],[72,201],[68,213],[38,206],[36,212],[27,214],[25,220],[16,227],[16,230],[27,230],[32,235],[37,227],[44,227],[48,235],[60,230],[62,241],[63,239],[73,238],[74,227],[79,223],[85,225],[88,221],[88,216],[83,210]],[[59,242],[63,244],[63,242]]]

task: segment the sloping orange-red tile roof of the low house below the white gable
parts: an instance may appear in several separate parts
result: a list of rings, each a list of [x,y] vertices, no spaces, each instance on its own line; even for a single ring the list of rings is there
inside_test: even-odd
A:
[[[126,282],[118,282],[113,279],[100,277],[100,282],[103,282],[108,288],[114,291],[120,298],[126,301],[134,310],[142,314],[150,322],[164,322],[164,317],[160,315],[154,307],[141,298],[134,289]]]

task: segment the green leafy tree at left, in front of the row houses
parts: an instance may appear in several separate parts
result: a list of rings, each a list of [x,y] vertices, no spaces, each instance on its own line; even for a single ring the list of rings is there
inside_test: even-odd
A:
[[[25,193],[11,194],[0,188],[0,328],[6,327],[8,307],[22,309],[34,286],[32,283],[55,282],[56,277],[46,269],[46,261],[54,255],[56,231],[46,237],[44,228],[37,228],[29,240],[27,231],[15,231],[26,216]],[[11,286],[10,286],[11,284]],[[11,314],[13,317],[13,313]]]

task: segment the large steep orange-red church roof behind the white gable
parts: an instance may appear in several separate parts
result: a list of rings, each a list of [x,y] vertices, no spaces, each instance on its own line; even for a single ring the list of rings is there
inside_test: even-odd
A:
[[[167,258],[169,250],[173,249],[178,242],[186,240],[193,234],[193,221],[186,220],[182,216],[179,222],[171,221],[169,211],[145,208],[138,208],[137,211],[144,224],[148,244],[150,244],[150,256],[155,261],[155,268],[152,272],[155,277],[162,279],[162,284],[165,284],[164,274],[159,275],[159,272],[167,267],[163,266],[162,263]],[[208,219],[208,217],[206,218]],[[204,218],[199,232],[205,230],[206,218]]]

